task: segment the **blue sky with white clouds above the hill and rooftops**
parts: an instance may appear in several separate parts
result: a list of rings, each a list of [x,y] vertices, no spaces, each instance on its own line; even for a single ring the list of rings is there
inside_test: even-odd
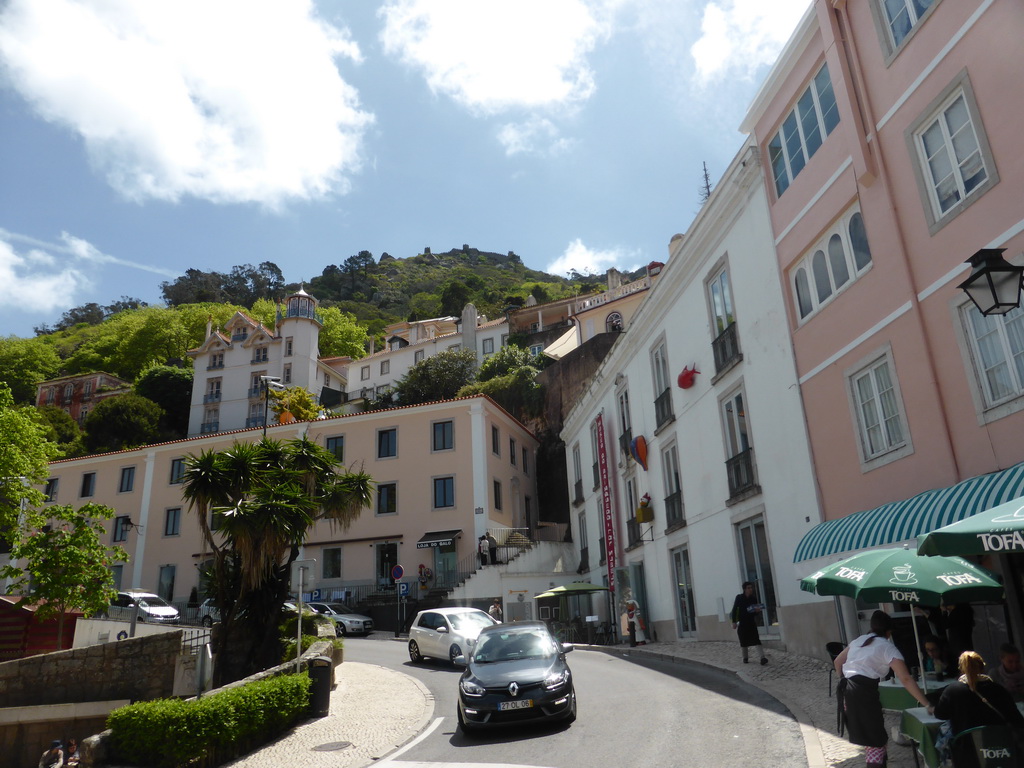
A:
[[[664,261],[809,0],[0,0],[0,337],[187,268]]]

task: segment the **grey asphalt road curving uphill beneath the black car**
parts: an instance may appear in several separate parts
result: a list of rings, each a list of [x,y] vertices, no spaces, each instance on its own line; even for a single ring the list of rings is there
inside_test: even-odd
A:
[[[404,642],[380,639],[346,638],[345,660],[412,675],[434,695],[433,723],[384,761],[393,768],[807,765],[800,729],[785,708],[734,675],[696,665],[636,664],[577,649],[568,656],[579,700],[575,723],[467,737],[455,717],[461,670],[440,662],[413,665]]]

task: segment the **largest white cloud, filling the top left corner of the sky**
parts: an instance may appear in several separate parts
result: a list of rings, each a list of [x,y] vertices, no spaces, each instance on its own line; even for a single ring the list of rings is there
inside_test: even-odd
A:
[[[0,63],[134,200],[276,206],[348,188],[373,117],[311,0],[9,0]]]

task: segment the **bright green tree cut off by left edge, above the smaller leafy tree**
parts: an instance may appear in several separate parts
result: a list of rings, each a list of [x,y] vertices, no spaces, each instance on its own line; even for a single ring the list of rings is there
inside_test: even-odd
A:
[[[13,543],[18,517],[42,505],[38,485],[49,476],[49,462],[60,455],[47,439],[32,407],[15,408],[10,387],[0,383],[0,541]]]

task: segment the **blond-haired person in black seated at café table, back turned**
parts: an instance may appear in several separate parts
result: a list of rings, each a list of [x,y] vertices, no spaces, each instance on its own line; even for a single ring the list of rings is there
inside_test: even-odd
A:
[[[1009,725],[1024,728],[1024,717],[1017,711],[1010,693],[985,675],[985,659],[973,650],[959,657],[959,680],[942,689],[935,706],[935,717],[948,720],[953,735],[980,725]],[[969,738],[952,744],[954,766],[977,765],[974,744]]]

